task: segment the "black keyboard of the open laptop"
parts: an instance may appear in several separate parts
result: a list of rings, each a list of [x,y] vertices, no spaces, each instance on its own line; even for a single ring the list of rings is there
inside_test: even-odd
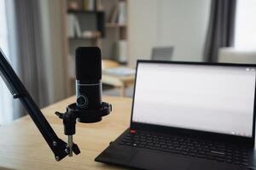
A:
[[[131,130],[130,133],[127,133],[119,141],[119,144],[150,150],[161,150],[177,155],[199,157],[241,166],[249,165],[247,149],[236,145],[227,145],[201,139]]]

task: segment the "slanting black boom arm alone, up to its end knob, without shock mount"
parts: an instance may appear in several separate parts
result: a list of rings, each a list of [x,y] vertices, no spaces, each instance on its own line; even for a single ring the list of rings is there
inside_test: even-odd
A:
[[[62,158],[69,155],[70,152],[79,154],[80,150],[77,144],[73,144],[70,148],[66,142],[59,139],[49,122],[45,119],[43,113],[39,110],[38,105],[33,101],[30,94],[28,94],[26,88],[20,82],[19,77],[15,74],[15,71],[9,65],[8,60],[4,57],[0,48],[0,73],[3,77],[3,81],[6,83],[9,91],[15,99],[20,99],[21,104],[26,108],[26,111],[31,116],[32,121],[35,122],[40,133],[42,133],[44,139],[49,144],[49,148],[55,154],[55,160],[61,161]]]

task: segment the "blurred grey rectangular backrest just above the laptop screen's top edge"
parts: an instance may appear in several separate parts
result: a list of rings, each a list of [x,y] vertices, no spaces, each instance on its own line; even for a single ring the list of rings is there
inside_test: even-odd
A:
[[[154,47],[152,48],[151,59],[153,60],[171,60],[173,47]]]

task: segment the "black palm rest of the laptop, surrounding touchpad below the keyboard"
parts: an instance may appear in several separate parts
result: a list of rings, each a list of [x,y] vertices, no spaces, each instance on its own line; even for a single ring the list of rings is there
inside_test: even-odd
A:
[[[241,167],[235,164],[211,161],[190,156],[177,156],[159,150],[148,150],[132,146],[120,145],[119,139],[122,139],[125,131],[118,139],[111,143],[106,150],[96,157],[95,161],[132,167],[138,169],[175,169],[175,170],[248,170],[253,167]]]

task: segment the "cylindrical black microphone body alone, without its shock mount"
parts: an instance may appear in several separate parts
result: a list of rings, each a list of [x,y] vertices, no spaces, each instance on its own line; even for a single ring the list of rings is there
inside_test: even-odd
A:
[[[102,106],[102,54],[97,47],[76,49],[76,105],[80,110]],[[80,119],[79,122],[88,122]]]

